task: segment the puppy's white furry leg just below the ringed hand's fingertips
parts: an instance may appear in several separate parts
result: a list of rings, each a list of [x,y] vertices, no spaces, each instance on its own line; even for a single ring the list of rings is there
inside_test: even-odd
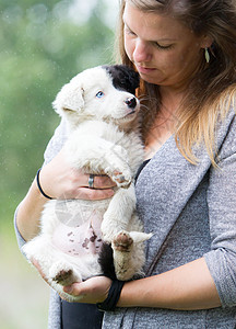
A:
[[[102,234],[106,242],[111,242],[116,234],[127,230],[135,208],[133,184],[129,189],[119,189],[110,200],[102,222]]]

